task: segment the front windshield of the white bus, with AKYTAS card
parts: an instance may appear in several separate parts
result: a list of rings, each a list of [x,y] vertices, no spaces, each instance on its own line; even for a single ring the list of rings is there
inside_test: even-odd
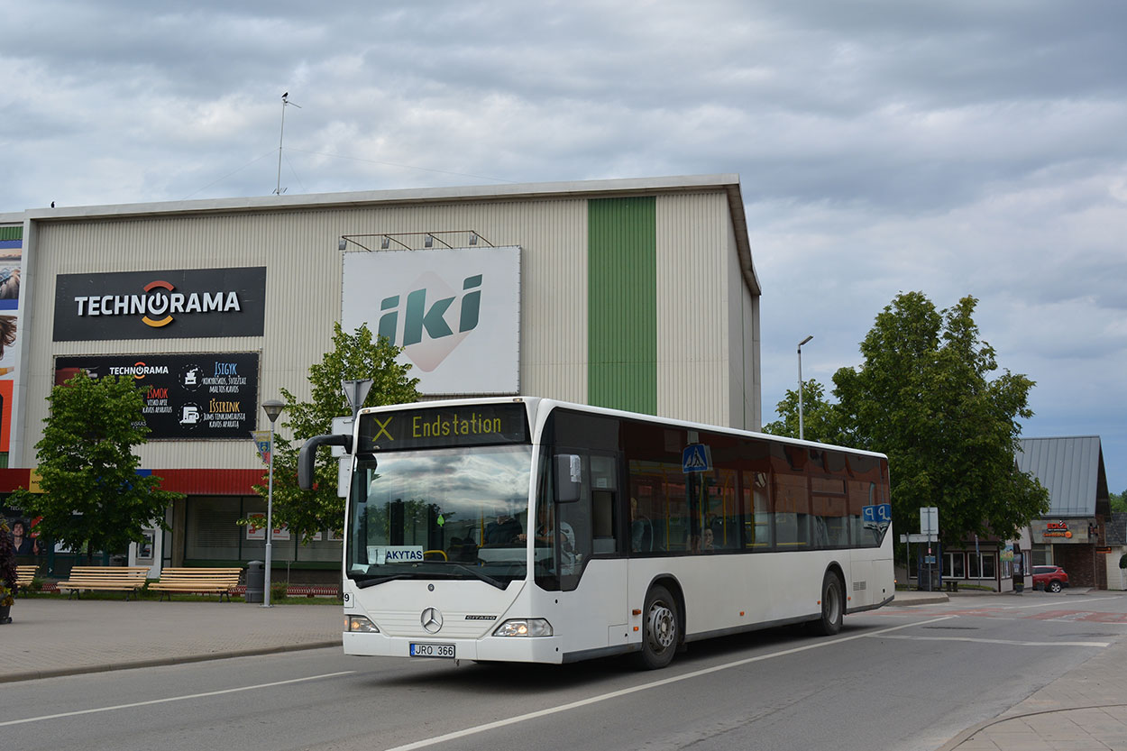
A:
[[[345,571],[357,585],[526,574],[532,447],[432,449],[358,458]]]

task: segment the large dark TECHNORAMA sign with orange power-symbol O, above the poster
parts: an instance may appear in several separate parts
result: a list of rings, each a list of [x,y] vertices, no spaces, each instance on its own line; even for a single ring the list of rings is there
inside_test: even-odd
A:
[[[266,267],[60,274],[56,342],[260,336]]]

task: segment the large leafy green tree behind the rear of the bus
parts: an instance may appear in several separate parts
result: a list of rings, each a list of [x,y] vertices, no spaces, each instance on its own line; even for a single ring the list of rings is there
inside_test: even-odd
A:
[[[937,310],[921,292],[900,293],[861,343],[864,363],[834,374],[843,443],[888,454],[894,523],[914,531],[919,509],[937,506],[948,545],[1017,537],[1049,506],[1014,460],[1033,381],[991,378],[996,353],[979,339],[976,303]]]

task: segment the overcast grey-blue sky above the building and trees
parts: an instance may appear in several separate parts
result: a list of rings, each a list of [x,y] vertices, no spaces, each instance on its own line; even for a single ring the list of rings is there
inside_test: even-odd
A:
[[[165,8],[172,9],[162,12]],[[1127,488],[1127,3],[0,0],[0,212],[736,173],[766,418],[900,291]]]

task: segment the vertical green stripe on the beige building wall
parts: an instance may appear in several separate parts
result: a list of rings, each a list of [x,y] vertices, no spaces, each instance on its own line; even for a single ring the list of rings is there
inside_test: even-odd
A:
[[[587,202],[587,401],[657,412],[657,201]]]

